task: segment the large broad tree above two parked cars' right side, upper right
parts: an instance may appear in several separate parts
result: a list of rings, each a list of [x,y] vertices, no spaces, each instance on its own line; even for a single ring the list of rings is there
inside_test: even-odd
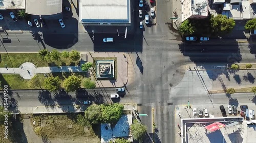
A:
[[[236,25],[236,22],[232,18],[227,18],[226,15],[219,14],[217,16],[211,16],[211,28],[214,34],[228,34]]]

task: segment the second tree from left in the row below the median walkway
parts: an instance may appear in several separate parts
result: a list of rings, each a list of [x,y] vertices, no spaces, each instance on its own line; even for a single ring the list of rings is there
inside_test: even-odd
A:
[[[54,92],[59,90],[60,88],[60,79],[58,76],[56,77],[48,77],[45,79],[44,81],[44,87],[46,90],[50,91],[50,92]]]

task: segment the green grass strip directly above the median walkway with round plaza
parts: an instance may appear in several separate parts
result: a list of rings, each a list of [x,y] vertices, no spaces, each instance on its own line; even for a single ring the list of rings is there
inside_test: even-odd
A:
[[[0,54],[0,68],[5,67],[14,67],[18,68],[25,62],[31,62],[37,67],[52,67],[52,66],[75,66],[78,65],[78,61],[72,61],[69,58],[60,58],[58,61],[42,61],[38,53],[1,53]]]

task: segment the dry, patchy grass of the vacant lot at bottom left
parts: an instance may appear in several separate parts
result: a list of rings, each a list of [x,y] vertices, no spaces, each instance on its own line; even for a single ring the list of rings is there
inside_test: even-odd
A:
[[[49,138],[98,138],[100,132],[94,132],[91,126],[84,127],[76,122],[77,114],[69,115],[34,115],[31,125],[37,135],[46,135]],[[33,122],[35,121],[35,124]],[[72,128],[68,128],[68,127]],[[38,133],[38,128],[40,133]],[[99,133],[99,134],[98,134]],[[98,138],[98,142],[100,138]]]

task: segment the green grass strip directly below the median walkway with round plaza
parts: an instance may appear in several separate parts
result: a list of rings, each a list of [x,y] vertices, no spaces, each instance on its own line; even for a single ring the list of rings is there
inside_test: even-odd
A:
[[[42,78],[47,78],[44,74],[38,74]],[[86,72],[58,72],[58,73],[47,73],[48,77],[58,76],[61,80],[61,87],[63,87],[63,81],[71,75],[76,75],[79,78],[83,79],[87,77]],[[2,88],[4,85],[8,84],[10,89],[31,89],[28,86],[29,80],[25,80],[19,76],[19,74],[0,74],[0,79],[2,81]],[[44,85],[41,85],[41,88],[44,88]]]

